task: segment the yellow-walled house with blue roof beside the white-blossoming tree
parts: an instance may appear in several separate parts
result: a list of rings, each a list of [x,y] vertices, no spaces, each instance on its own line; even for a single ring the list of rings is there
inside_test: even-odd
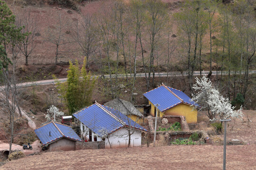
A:
[[[179,115],[185,116],[187,123],[197,122],[197,110],[191,105],[199,106],[197,103],[190,101],[190,97],[180,90],[161,85],[149,92],[143,94],[151,104],[150,113],[153,117],[156,115],[156,104],[159,104],[159,114],[163,115]]]

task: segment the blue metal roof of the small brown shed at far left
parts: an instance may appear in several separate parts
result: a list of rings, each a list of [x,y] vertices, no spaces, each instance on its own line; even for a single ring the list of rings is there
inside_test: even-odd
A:
[[[37,128],[35,133],[43,145],[52,143],[62,137],[82,141],[71,127],[53,121]]]

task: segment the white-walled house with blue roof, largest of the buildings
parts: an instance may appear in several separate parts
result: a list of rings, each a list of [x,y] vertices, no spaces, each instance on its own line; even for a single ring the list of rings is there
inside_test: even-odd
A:
[[[120,111],[95,104],[77,111],[73,116],[80,121],[81,138],[85,141],[104,141],[105,148],[140,146],[145,128]],[[130,134],[130,135],[129,135]]]

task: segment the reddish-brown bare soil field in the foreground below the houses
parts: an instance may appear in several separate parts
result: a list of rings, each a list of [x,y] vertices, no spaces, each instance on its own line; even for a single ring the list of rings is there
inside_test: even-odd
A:
[[[3,170],[220,170],[222,155],[223,146],[212,145],[80,150],[29,156],[10,161],[1,168]],[[256,169],[255,159],[255,145],[227,146],[228,170]]]

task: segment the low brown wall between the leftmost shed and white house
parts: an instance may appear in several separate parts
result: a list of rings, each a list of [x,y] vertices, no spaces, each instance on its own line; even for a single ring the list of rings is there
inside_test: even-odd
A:
[[[76,142],[76,150],[105,149],[105,142]]]

